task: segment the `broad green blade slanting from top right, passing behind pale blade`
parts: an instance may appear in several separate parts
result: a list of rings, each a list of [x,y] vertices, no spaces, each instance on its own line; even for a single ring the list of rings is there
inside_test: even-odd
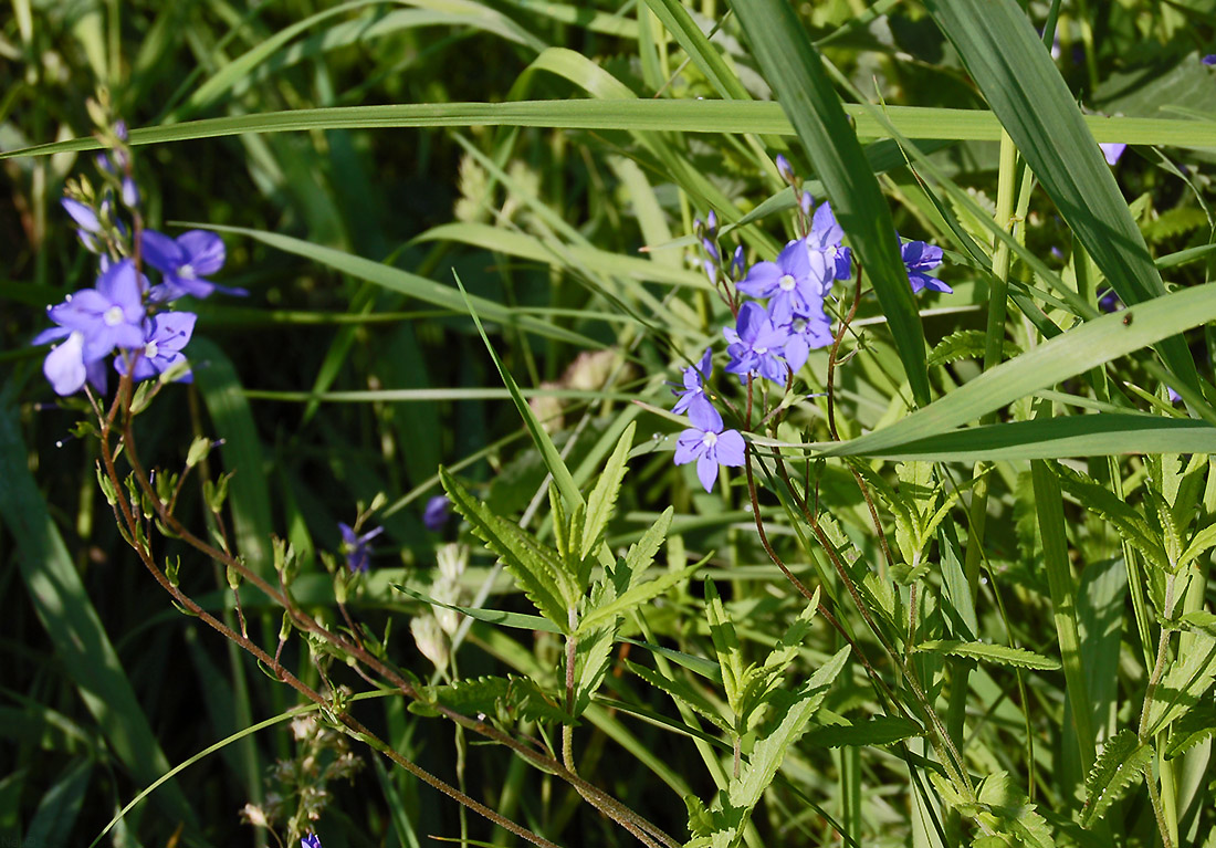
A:
[[[1127,202],[1073,94],[1013,0],[928,0],[972,78],[1060,215],[1126,304],[1165,293]],[[1156,350],[1181,383],[1199,388],[1182,336]],[[1206,404],[1211,411],[1211,404]]]

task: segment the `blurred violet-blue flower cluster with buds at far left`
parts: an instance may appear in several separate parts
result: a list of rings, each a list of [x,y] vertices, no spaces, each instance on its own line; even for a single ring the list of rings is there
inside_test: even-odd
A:
[[[92,288],[49,307],[47,318],[56,326],[34,337],[34,344],[56,342],[43,363],[43,374],[61,395],[75,394],[85,382],[105,392],[106,360],[116,350],[114,370],[124,376],[129,372],[136,382],[170,369],[181,371],[179,380],[188,381],[182,348],[195,331],[197,315],[167,307],[186,294],[248,293],[207,280],[224,266],[224,242],[214,232],[191,230],[171,238],[139,226],[140,192],[125,137],[119,122],[112,139],[114,150],[97,159],[102,187],[95,190],[80,179],[69,182],[62,201],[77,224],[80,243],[98,257],[100,274]],[[122,220],[116,197],[135,225]],[[140,258],[159,273],[159,283],[150,283],[137,264]]]

